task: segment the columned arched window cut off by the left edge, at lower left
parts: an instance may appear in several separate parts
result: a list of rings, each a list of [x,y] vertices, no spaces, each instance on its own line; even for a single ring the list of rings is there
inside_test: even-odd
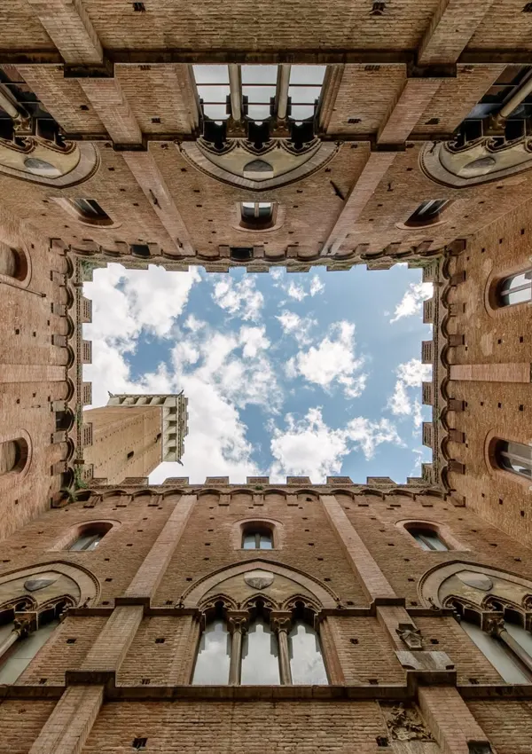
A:
[[[0,656],[0,684],[15,683],[22,675],[59,625],[59,614],[64,607],[65,602],[61,601],[44,610],[37,617],[36,628],[31,618],[27,624],[22,620],[15,625],[11,620],[0,625],[0,647],[4,649]]]

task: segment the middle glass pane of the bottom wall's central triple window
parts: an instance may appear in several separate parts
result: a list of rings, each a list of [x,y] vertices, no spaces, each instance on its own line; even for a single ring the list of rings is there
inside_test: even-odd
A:
[[[258,618],[242,643],[242,684],[278,686],[281,682],[277,636]]]

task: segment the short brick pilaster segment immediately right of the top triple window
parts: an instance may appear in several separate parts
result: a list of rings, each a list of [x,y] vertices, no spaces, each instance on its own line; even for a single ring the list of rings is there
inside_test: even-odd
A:
[[[379,144],[403,144],[410,136],[431,99],[440,88],[442,79],[411,78],[404,82],[403,91],[379,131]]]

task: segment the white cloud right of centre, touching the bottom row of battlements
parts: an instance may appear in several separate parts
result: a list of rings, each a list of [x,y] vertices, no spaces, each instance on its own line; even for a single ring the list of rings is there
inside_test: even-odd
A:
[[[348,453],[359,451],[372,459],[382,443],[403,445],[395,426],[388,420],[372,421],[356,417],[346,428],[327,427],[321,408],[310,408],[302,420],[286,414],[286,430],[275,428],[270,450],[274,462],[270,469],[272,481],[286,475],[309,476],[312,482],[325,481],[327,475],[339,474],[342,460]]]

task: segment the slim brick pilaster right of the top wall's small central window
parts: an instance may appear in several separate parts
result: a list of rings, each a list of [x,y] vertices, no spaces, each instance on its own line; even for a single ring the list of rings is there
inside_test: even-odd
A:
[[[329,238],[325,241],[325,252],[336,254],[348,232],[353,230],[364,207],[372,198],[380,181],[385,177],[387,169],[391,167],[396,154],[393,152],[372,152],[364,165],[364,170],[358,177],[345,202],[340,216],[332,228]]]

